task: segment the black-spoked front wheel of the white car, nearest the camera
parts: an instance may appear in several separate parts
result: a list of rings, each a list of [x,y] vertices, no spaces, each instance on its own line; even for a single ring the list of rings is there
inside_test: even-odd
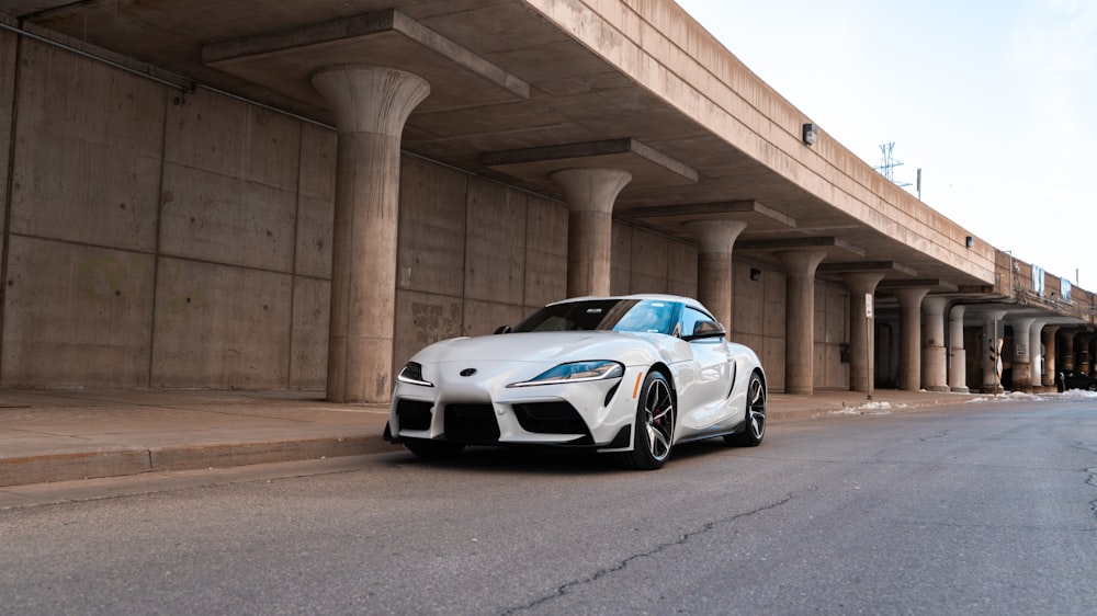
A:
[[[663,468],[670,457],[677,419],[670,381],[657,370],[647,373],[640,399],[636,401],[633,448],[631,452],[619,454],[622,466],[637,470]]]

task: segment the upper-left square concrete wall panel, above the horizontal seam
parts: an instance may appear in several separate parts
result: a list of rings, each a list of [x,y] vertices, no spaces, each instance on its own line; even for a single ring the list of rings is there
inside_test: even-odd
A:
[[[149,252],[163,88],[23,41],[11,233]]]

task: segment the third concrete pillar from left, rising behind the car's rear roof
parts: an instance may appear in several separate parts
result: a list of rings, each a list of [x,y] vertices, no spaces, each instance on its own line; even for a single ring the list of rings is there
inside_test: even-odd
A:
[[[735,280],[732,247],[747,226],[742,220],[695,220],[686,227],[697,237],[697,298],[732,331],[732,294]],[[689,333],[689,332],[683,332]]]

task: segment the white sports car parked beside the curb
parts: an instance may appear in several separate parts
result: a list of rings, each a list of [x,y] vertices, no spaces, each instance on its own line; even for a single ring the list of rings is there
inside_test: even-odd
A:
[[[656,469],[677,443],[766,433],[766,375],[694,299],[583,297],[496,335],[431,344],[397,378],[385,437],[423,457],[553,445]]]

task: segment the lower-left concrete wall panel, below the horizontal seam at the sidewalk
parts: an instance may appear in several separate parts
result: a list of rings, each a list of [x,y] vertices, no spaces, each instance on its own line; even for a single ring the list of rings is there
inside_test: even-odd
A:
[[[147,386],[154,270],[149,254],[12,236],[3,383]]]

